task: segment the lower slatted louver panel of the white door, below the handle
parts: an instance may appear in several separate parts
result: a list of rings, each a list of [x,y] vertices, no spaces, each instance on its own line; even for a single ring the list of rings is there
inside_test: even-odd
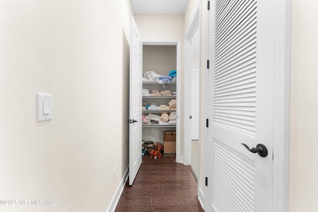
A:
[[[214,140],[213,203],[218,212],[254,211],[254,162]]]

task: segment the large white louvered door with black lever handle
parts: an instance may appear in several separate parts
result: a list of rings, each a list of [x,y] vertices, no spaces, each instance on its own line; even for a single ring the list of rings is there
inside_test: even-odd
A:
[[[272,211],[273,5],[274,0],[211,1],[209,204],[214,212]],[[262,143],[268,156],[241,143],[250,148]]]

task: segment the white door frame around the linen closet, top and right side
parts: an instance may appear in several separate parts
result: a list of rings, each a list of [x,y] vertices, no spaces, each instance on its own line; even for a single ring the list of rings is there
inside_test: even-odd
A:
[[[143,46],[176,46],[176,71],[177,71],[177,126],[176,126],[176,148],[175,161],[183,163],[181,155],[181,40],[180,39],[142,39]]]

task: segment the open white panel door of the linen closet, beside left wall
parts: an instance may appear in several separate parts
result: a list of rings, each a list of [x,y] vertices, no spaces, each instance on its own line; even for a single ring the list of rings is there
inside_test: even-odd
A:
[[[129,185],[132,185],[142,163],[142,71],[143,44],[134,17],[130,33],[129,96]]]

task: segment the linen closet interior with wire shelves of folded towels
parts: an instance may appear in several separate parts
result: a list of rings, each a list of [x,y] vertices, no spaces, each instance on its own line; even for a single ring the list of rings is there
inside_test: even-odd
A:
[[[176,151],[176,51],[176,46],[143,46],[142,139],[160,142],[164,155]]]

